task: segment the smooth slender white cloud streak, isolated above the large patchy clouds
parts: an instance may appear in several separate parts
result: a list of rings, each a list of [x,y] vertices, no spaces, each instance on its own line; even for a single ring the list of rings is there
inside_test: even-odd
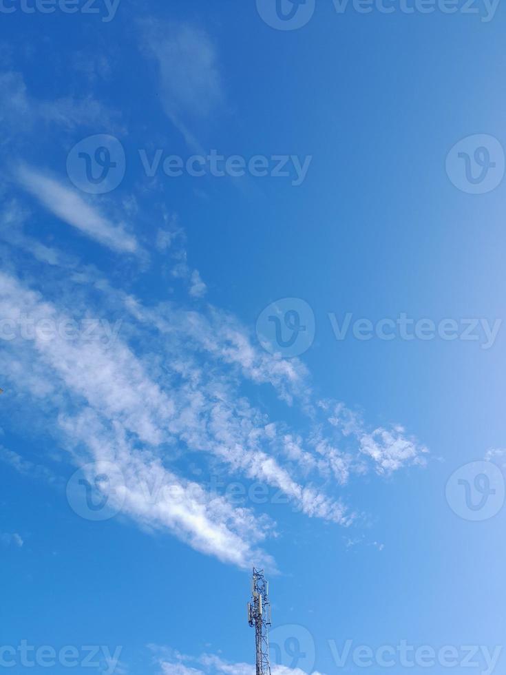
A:
[[[140,253],[136,238],[120,223],[105,218],[73,189],[26,165],[17,170],[20,185],[54,216],[118,253]]]

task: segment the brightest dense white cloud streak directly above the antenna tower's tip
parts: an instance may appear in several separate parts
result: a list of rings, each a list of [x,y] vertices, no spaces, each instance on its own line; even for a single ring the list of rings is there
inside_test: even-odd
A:
[[[272,528],[269,519],[259,519],[246,508],[233,508],[195,481],[178,477],[160,459],[136,448],[120,424],[106,424],[92,408],[78,417],[61,416],[59,426],[68,447],[91,453],[96,472],[101,472],[101,463],[114,464],[120,484],[112,498],[120,500],[123,514],[148,530],[167,529],[224,563],[247,568],[255,559],[264,559],[275,568],[270,556],[255,549]]]

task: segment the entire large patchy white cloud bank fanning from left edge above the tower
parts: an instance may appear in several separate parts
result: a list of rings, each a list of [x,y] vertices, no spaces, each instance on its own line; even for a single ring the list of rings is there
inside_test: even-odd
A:
[[[38,186],[32,189],[46,207],[51,208],[50,195],[67,192],[57,183],[55,190],[53,179],[26,171],[23,180]],[[72,206],[71,201],[67,207]],[[158,249],[176,262],[176,276],[187,282],[189,296],[201,295],[194,287],[203,282],[191,271],[175,227],[158,231]],[[49,302],[30,288],[26,275],[21,283],[14,273],[0,273],[0,315],[63,324],[90,313],[123,313],[114,349],[110,340],[83,335],[72,340],[35,335],[6,344],[1,371],[36,399],[51,433],[60,435],[76,464],[92,459],[118,466],[123,513],[143,528],[172,532],[196,550],[242,568],[258,559],[273,568],[273,559],[259,547],[275,535],[275,523],[178,475],[168,466],[173,458],[183,450],[199,453],[221,477],[261,481],[302,514],[343,526],[355,515],[340,488],[371,468],[390,475],[423,464],[426,449],[401,427],[371,429],[344,404],[315,400],[306,366],[263,351],[231,313],[202,302],[198,311],[176,302],[148,306],[89,267],[71,271],[73,287],[67,292],[68,270],[54,274],[61,276],[62,290]],[[299,406],[308,430],[271,419],[244,394],[245,382],[271,386],[282,401]],[[160,488],[167,485],[174,486],[177,499]],[[146,486],[160,488],[156,498]]]

